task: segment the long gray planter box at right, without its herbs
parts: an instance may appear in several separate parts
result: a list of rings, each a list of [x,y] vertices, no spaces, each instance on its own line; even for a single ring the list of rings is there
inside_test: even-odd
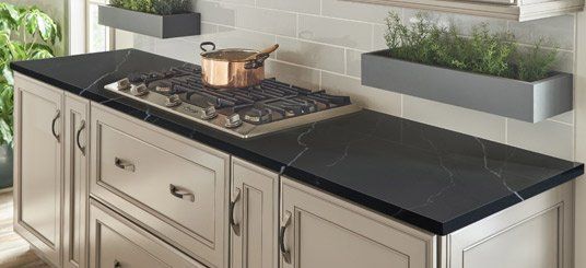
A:
[[[571,73],[525,82],[390,58],[388,50],[362,55],[362,84],[538,123],[573,109]]]

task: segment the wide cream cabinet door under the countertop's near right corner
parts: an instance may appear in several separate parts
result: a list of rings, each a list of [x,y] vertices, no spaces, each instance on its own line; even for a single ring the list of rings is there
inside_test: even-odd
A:
[[[281,178],[282,268],[431,268],[435,236]]]

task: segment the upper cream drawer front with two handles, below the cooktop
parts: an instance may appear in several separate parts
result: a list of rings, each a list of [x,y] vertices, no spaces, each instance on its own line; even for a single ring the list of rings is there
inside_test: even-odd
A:
[[[213,242],[215,172],[110,126],[98,126],[97,176],[120,195]],[[176,195],[171,190],[178,188]]]

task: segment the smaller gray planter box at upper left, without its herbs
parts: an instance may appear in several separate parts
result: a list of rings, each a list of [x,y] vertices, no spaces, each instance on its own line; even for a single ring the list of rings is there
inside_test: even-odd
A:
[[[132,33],[173,38],[200,34],[199,13],[156,15],[112,5],[99,5],[98,23]]]

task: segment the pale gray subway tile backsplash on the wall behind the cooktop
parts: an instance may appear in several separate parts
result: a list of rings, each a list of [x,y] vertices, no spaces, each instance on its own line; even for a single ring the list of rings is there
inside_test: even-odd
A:
[[[526,125],[362,86],[361,54],[386,47],[384,20],[388,12],[399,12],[403,21],[409,21],[418,12],[415,10],[339,0],[198,0],[194,5],[202,13],[203,35],[165,42],[136,35],[134,46],[199,62],[198,45],[202,40],[216,42],[219,47],[255,49],[278,43],[281,48],[267,62],[267,72],[284,82],[348,94],[356,103],[383,113],[573,158],[572,113],[538,125]],[[469,33],[471,25],[487,22],[491,31],[512,31],[523,44],[531,44],[537,37],[544,36],[563,49],[556,69],[572,71],[574,68],[573,15],[524,23],[447,13],[431,15],[444,24],[454,22],[465,33]],[[572,144],[554,144],[549,142],[551,140],[570,140]]]

